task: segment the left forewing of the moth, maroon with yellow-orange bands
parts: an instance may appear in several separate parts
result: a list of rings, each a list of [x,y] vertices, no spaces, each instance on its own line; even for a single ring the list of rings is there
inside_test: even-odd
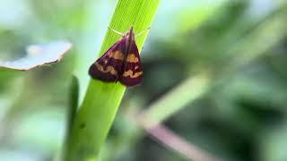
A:
[[[89,74],[91,78],[102,81],[117,81],[123,72],[125,59],[126,38],[121,38],[94,64],[91,64]]]

